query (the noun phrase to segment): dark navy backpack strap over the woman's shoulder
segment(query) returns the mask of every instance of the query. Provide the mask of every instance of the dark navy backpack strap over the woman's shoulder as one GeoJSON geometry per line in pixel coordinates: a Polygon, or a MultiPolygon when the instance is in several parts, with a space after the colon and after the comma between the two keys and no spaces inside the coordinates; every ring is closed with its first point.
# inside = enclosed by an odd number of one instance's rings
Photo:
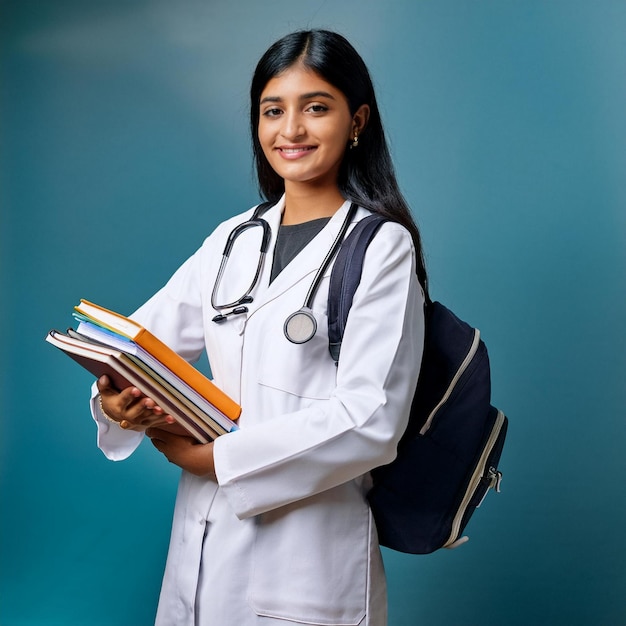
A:
{"type": "Polygon", "coordinates": [[[376,213],[363,218],[344,239],[335,259],[328,289],[328,349],[335,363],[339,361],[354,292],[361,281],[365,251],[386,221],[388,218],[376,213]]]}

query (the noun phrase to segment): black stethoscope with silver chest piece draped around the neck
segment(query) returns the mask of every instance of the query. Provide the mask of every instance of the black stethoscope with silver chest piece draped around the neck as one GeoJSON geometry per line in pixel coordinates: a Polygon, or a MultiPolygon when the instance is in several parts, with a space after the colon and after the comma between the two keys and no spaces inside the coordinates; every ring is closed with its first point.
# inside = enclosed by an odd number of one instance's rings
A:
{"type": "MultiPolygon", "coordinates": [[[[356,213],[356,210],[356,204],[352,203],[346,217],[343,220],[341,229],[339,230],[339,233],[337,233],[337,236],[333,241],[333,245],[326,254],[326,257],[322,261],[322,264],[315,274],[315,278],[313,279],[313,282],[309,287],[309,291],[306,294],[306,298],[304,299],[304,304],[300,309],[294,311],[285,320],[285,323],[283,325],[283,332],[285,333],[285,337],[287,337],[287,339],[292,343],[306,343],[307,341],[311,340],[317,332],[317,320],[315,319],[312,311],[313,299],[315,298],[315,294],[317,293],[320,283],[322,282],[324,273],[328,269],[330,262],[339,251],[339,247],[341,246],[341,243],[346,236],[346,232],[348,230],[348,227],[350,226],[350,222],[352,221],[354,214],[356,213]]],[[[263,262],[265,260],[265,255],[269,246],[270,237],[270,226],[264,219],[261,218],[253,218],[251,220],[248,220],[247,222],[243,222],[242,224],[235,226],[235,228],[228,235],[226,245],[224,247],[224,252],[222,253],[222,261],[220,263],[220,267],[217,272],[217,278],[215,279],[215,284],[213,285],[213,291],[211,293],[211,306],[218,311],[224,311],[225,309],[230,309],[230,311],[218,313],[215,317],[213,317],[213,321],[217,324],[225,322],[231,315],[241,315],[242,313],[248,312],[248,307],[246,305],[253,300],[250,294],[252,293],[252,290],[258,282],[259,276],[261,275],[261,269],[263,268],[263,262]],[[235,240],[246,230],[255,227],[262,228],[263,236],[261,238],[259,261],[257,263],[254,278],[252,279],[250,286],[245,291],[243,296],[237,298],[237,300],[234,300],[233,302],[229,302],[228,304],[217,304],[217,293],[219,291],[219,287],[224,276],[224,271],[226,269],[226,264],[228,262],[228,258],[230,256],[230,252],[233,248],[235,240]]]]}

